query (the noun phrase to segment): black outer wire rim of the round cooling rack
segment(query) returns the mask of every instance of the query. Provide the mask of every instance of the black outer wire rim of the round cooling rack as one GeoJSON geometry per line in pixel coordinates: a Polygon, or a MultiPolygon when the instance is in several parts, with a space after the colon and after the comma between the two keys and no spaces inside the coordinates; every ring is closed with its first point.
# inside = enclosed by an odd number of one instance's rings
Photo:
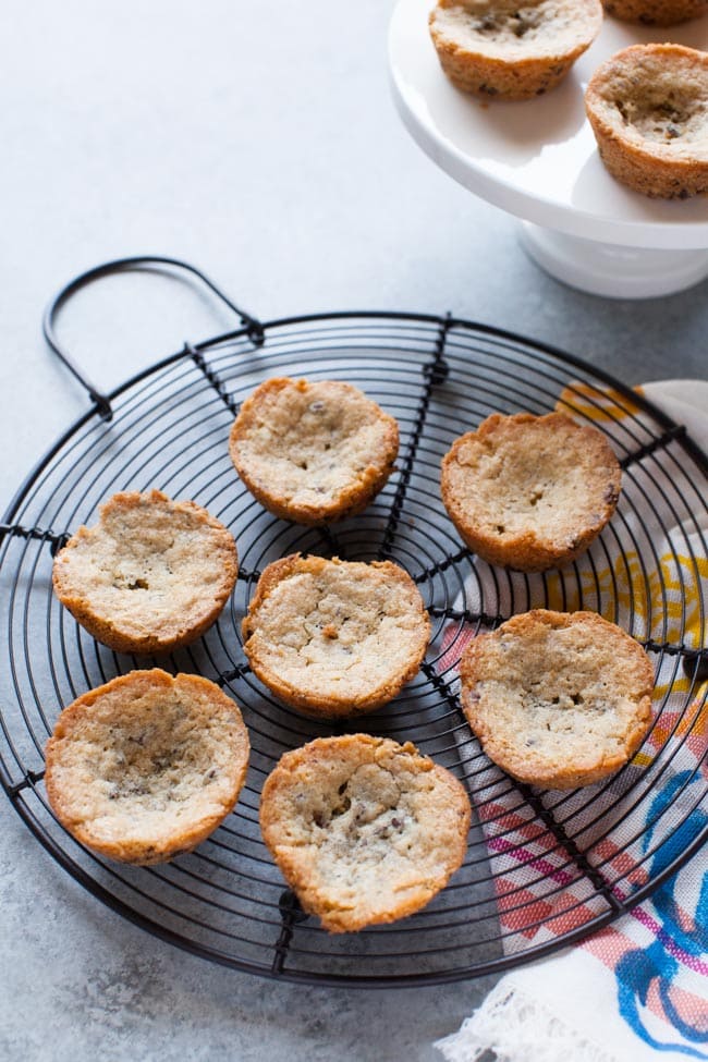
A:
{"type": "MultiPolygon", "coordinates": [[[[331,313],[314,313],[297,315],[292,317],[274,318],[270,321],[258,322],[263,328],[264,332],[272,330],[276,328],[284,328],[293,325],[320,322],[320,321],[337,321],[337,320],[395,320],[395,321],[414,321],[418,324],[429,324],[437,325],[439,328],[449,331],[452,328],[467,329],[477,333],[491,335],[497,339],[509,340],[512,343],[517,343],[526,349],[535,349],[546,355],[550,355],[554,361],[560,361],[569,366],[576,367],[584,371],[590,371],[594,377],[598,380],[611,387],[614,391],[620,393],[624,399],[634,403],[646,413],[649,413],[666,430],[676,431],[680,426],[668,416],[662,410],[658,408],[650,400],[646,399],[644,394],[636,392],[628,386],[624,384],[622,381],[618,380],[609,373],[589,365],[583,358],[567,353],[566,351],[553,346],[545,341],[535,340],[517,332],[510,331],[506,329],[501,329],[492,325],[487,325],[484,322],[472,321],[466,318],[454,317],[451,314],[445,316],[440,316],[437,314],[417,314],[413,312],[395,312],[395,310],[334,310],[331,313]]],[[[230,330],[210,339],[203,340],[198,343],[186,343],[181,350],[173,354],[167,355],[146,368],[134,374],[123,383],[118,384],[110,391],[106,396],[109,401],[114,400],[120,396],[123,392],[130,390],[135,384],[139,383],[142,380],[147,379],[151,375],[160,371],[168,366],[175,364],[183,359],[193,358],[195,353],[202,353],[203,351],[208,351],[218,344],[228,342],[230,340],[239,340],[241,338],[248,338],[248,328],[242,327],[239,329],[230,330]]],[[[266,347],[267,350],[267,347],[266,347]]],[[[21,504],[25,500],[28,491],[44,472],[50,461],[57,455],[59,451],[69,442],[69,440],[94,416],[100,412],[100,406],[98,403],[94,403],[85,414],[82,414],[54,442],[54,444],[44,454],[42,457],[36,463],[34,468],[28,473],[25,479],[22,481],[14,497],[10,501],[4,515],[2,517],[3,523],[11,524],[14,516],[16,515],[21,504]]],[[[694,442],[694,440],[685,434],[685,431],[679,430],[675,441],[684,449],[691,457],[696,462],[699,469],[708,475],[708,455],[694,442]]],[[[7,530],[0,530],[0,546],[4,542],[8,535],[7,530]]],[[[1,709],[0,709],[1,710],[1,709]]],[[[425,987],[441,984],[451,984],[461,980],[469,980],[474,977],[500,974],[514,968],[520,965],[525,965],[537,959],[541,959],[548,954],[554,953],[559,950],[559,947],[566,947],[569,944],[576,944],[599,929],[605,928],[611,923],[615,921],[619,917],[632,911],[635,906],[650,896],[657,891],[669,878],[671,878],[675,872],[678,872],[683,866],[685,866],[689,859],[708,842],[708,826],[706,826],[696,838],[682,850],[682,852],[675,856],[670,863],[668,863],[660,872],[658,872],[647,884],[637,889],[631,896],[626,898],[618,908],[610,908],[603,914],[595,916],[591,920],[585,923],[577,929],[566,931],[562,935],[559,940],[551,940],[545,943],[535,944],[521,952],[517,955],[514,954],[503,954],[498,959],[486,960],[477,963],[473,969],[461,967],[460,969],[449,971],[449,972],[435,972],[431,974],[403,974],[395,976],[379,976],[379,977],[366,977],[359,975],[324,975],[320,973],[302,973],[295,969],[283,968],[280,971],[268,971],[265,966],[258,966],[254,963],[249,963],[245,960],[234,960],[230,955],[224,955],[215,949],[204,948],[199,943],[181,937],[179,933],[172,931],[171,929],[162,926],[159,921],[147,917],[139,911],[131,907],[127,903],[119,900],[109,890],[105,889],[97,881],[95,881],[86,871],[74,860],[65,855],[63,850],[57,845],[53,840],[41,829],[40,825],[34,820],[29,808],[25,806],[22,799],[22,794],[25,789],[34,789],[35,780],[30,777],[32,772],[25,773],[25,781],[21,785],[12,784],[10,777],[7,773],[5,767],[0,761],[0,783],[3,790],[8,794],[11,804],[14,806],[15,810],[20,815],[23,822],[28,827],[32,833],[37,838],[42,847],[62,866],[73,878],[78,881],[91,895],[101,901],[106,906],[114,911],[117,914],[126,918],[132,924],[138,926],[142,929],[147,930],[152,936],[166,941],[167,943],[173,944],[174,947],[188,952],[191,954],[197,955],[203,959],[208,959],[211,962],[216,962],[219,965],[225,966],[231,969],[236,969],[243,973],[254,974],[259,977],[265,977],[267,979],[278,980],[278,981],[291,981],[294,984],[307,984],[307,985],[318,985],[330,988],[413,988],[413,987],[425,987]]]]}

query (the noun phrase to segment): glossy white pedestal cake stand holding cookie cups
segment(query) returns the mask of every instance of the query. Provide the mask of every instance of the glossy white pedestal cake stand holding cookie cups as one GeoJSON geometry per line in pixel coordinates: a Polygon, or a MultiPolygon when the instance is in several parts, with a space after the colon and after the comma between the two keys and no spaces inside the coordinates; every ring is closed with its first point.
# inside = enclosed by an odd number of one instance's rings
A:
{"type": "Polygon", "coordinates": [[[600,162],[583,94],[627,45],[672,40],[708,50],[708,16],[664,29],[607,17],[547,96],[485,102],[454,88],[428,34],[432,0],[399,0],[389,33],[394,99],[417,144],[447,173],[524,219],[528,254],[557,279],[622,298],[668,295],[708,277],[708,197],[649,199],[600,162]]]}

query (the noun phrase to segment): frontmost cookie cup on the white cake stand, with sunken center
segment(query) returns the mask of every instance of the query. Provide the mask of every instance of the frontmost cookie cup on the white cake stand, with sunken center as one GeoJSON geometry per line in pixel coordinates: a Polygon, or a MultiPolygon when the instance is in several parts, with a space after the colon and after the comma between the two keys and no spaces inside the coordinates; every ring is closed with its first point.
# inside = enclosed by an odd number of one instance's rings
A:
{"type": "Polygon", "coordinates": [[[585,93],[600,158],[643,195],[708,193],[708,54],[632,45],[602,63],[585,93]]]}

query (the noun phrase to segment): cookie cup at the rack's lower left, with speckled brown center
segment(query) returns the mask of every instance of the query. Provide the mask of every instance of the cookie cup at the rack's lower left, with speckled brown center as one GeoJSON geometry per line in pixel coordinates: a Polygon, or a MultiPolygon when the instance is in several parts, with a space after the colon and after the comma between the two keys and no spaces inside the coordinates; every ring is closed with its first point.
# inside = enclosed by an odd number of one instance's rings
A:
{"type": "Polygon", "coordinates": [[[47,796],[82,844],[149,866],[216,830],[239,798],[248,756],[241,711],[212,682],[133,671],[61,712],[47,743],[47,796]]]}

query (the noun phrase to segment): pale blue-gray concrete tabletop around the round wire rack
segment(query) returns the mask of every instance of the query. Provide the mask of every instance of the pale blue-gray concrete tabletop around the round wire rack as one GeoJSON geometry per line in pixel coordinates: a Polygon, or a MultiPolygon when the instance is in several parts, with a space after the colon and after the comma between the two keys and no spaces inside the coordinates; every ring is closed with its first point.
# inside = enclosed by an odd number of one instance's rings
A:
{"type": "MultiPolygon", "coordinates": [[[[49,296],[110,258],[186,258],[268,319],[448,309],[628,383],[706,376],[708,289],[609,302],[546,277],[514,221],[439,172],[388,89],[381,0],[8,0],[0,42],[0,500],[86,408],[48,353],[49,296]]],[[[164,277],[106,281],[61,334],[108,388],[229,327],[164,277]]],[[[0,802],[0,1058],[438,1057],[489,981],[294,988],[211,966],[85,893],[0,802]]]]}

